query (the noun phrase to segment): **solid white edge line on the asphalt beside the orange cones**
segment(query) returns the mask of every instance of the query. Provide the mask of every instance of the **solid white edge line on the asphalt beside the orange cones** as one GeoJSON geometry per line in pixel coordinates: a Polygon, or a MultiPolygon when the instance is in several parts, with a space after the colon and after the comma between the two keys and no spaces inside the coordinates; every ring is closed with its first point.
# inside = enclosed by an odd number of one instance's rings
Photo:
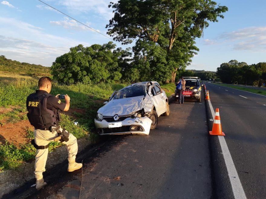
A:
{"type": "MultiPolygon", "coordinates": [[[[208,102],[209,102],[209,106],[210,106],[211,111],[212,111],[212,118],[214,119],[215,113],[214,113],[214,109],[212,107],[212,103],[210,102],[210,100],[208,100],[208,102]]],[[[225,138],[224,138],[224,136],[218,136],[218,138],[219,138],[219,142],[220,142],[220,145],[222,148],[222,154],[223,154],[223,157],[225,160],[225,165],[226,165],[229,179],[231,182],[234,197],[235,197],[235,199],[246,199],[247,198],[246,194],[245,194],[244,189],[242,187],[241,181],[238,177],[232,156],[231,156],[229,149],[228,149],[228,146],[225,142],[225,138]]]]}

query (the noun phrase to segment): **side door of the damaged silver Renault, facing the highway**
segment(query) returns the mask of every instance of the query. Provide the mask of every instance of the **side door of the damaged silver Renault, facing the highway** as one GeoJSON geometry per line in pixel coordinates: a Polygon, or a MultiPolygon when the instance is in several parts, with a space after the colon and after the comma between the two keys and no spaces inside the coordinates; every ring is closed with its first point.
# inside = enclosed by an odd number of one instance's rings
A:
{"type": "Polygon", "coordinates": [[[166,111],[166,101],[164,100],[164,93],[157,85],[154,85],[153,87],[151,87],[151,94],[157,115],[159,116],[166,111]]]}

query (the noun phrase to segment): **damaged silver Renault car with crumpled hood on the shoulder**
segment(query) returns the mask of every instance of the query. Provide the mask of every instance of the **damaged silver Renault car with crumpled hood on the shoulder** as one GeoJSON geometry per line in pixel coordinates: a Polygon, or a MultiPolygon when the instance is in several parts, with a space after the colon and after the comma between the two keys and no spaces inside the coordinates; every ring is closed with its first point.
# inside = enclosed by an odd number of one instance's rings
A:
{"type": "Polygon", "coordinates": [[[168,98],[156,81],[138,82],[114,91],[94,119],[100,135],[143,134],[155,129],[160,115],[169,115],[168,98]]]}

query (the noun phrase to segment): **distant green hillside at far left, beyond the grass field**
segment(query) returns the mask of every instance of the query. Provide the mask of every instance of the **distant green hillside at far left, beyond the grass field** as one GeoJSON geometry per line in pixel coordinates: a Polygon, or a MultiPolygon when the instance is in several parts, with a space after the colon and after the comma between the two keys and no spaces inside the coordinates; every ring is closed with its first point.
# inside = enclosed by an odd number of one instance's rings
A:
{"type": "Polygon", "coordinates": [[[0,56],[0,71],[19,73],[27,76],[50,76],[50,67],[13,61],[5,58],[4,55],[0,56]]]}

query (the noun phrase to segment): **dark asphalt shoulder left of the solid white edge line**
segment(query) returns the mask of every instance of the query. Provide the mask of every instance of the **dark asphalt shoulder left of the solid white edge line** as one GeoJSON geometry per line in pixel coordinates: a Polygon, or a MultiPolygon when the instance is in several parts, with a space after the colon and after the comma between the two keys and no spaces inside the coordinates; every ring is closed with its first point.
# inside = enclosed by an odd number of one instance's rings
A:
{"type": "Polygon", "coordinates": [[[105,138],[79,154],[82,170],[50,171],[44,189],[17,197],[212,198],[206,120],[204,103],[171,103],[170,115],[160,116],[150,135],[105,138]]]}

